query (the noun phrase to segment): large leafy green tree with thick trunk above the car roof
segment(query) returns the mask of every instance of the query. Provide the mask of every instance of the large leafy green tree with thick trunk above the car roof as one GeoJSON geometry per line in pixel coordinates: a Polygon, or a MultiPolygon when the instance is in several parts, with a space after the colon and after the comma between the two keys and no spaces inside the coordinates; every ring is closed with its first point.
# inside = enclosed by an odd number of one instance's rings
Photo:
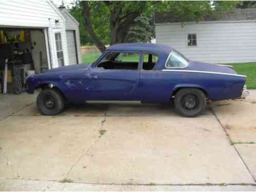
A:
{"type": "MultiPolygon", "coordinates": [[[[105,34],[109,34],[110,45],[141,39],[143,18],[154,13],[172,12],[182,22],[199,21],[216,10],[232,9],[232,1],[82,1],[84,27],[94,44],[103,52],[105,34]],[[102,28],[99,30],[99,28],[102,28]],[[108,31],[107,31],[108,29],[108,31]],[[102,34],[104,36],[102,36],[102,34]]],[[[142,34],[142,39],[147,34],[142,34]],[[144,35],[144,36],[143,36],[144,35]]]]}

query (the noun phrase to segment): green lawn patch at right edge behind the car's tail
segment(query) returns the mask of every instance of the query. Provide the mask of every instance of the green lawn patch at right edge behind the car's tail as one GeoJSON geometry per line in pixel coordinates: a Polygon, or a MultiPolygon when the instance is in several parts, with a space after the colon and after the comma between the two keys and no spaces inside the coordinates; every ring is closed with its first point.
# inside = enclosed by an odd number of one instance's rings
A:
{"type": "Polygon", "coordinates": [[[247,89],[256,89],[256,62],[230,63],[227,65],[233,66],[238,74],[247,76],[245,83],[247,89]]]}

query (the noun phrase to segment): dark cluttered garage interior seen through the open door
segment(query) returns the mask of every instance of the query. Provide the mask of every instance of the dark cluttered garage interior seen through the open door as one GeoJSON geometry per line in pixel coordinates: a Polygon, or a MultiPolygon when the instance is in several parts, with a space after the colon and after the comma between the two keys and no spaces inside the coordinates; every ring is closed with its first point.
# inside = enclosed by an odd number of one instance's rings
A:
{"type": "Polygon", "coordinates": [[[46,70],[43,29],[0,28],[0,94],[24,92],[26,76],[46,70]]]}

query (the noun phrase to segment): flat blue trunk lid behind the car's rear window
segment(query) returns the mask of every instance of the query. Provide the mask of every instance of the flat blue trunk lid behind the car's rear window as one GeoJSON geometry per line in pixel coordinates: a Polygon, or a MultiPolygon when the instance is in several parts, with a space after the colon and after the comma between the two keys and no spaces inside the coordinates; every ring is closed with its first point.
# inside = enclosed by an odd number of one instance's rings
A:
{"type": "Polygon", "coordinates": [[[207,62],[189,61],[189,66],[185,68],[186,70],[193,71],[206,71],[215,73],[229,73],[237,74],[231,66],[217,65],[207,62]]]}

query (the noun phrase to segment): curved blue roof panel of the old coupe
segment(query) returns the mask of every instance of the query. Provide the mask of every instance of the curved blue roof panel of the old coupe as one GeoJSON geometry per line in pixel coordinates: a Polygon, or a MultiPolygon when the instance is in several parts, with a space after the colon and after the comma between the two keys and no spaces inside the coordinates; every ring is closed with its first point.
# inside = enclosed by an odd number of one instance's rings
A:
{"type": "Polygon", "coordinates": [[[107,48],[108,51],[142,51],[142,52],[152,52],[156,54],[169,55],[173,50],[170,46],[160,45],[160,44],[143,44],[143,43],[126,43],[126,44],[115,44],[107,48]]]}

